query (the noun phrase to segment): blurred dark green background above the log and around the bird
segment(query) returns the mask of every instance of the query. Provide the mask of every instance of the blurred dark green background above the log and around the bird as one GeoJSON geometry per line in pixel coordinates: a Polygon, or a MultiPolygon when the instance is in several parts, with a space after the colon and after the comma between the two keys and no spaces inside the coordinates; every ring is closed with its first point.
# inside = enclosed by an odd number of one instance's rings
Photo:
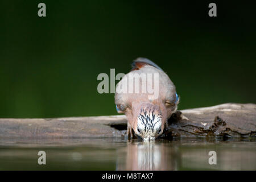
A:
{"type": "Polygon", "coordinates": [[[210,18],[210,2],[2,0],[0,117],[116,114],[97,76],[139,56],[167,72],[179,109],[255,103],[255,6],[213,1],[210,18]]]}

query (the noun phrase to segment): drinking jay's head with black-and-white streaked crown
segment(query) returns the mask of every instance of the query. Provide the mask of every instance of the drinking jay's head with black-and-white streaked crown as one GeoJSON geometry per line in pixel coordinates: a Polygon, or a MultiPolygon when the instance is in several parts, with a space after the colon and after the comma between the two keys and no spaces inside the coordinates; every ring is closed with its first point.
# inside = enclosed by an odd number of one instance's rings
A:
{"type": "Polygon", "coordinates": [[[162,119],[159,106],[150,103],[142,104],[138,116],[135,117],[134,131],[144,140],[154,140],[163,133],[162,119]]]}

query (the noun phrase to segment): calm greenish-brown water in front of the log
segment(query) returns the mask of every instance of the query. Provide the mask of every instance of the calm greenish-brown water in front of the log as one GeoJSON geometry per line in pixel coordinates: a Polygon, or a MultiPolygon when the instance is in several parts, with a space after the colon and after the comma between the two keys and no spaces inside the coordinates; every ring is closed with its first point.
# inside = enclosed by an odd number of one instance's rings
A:
{"type": "Polygon", "coordinates": [[[0,170],[256,170],[256,140],[0,139],[0,170]],[[38,152],[46,152],[46,165],[38,152]],[[217,164],[210,165],[209,151],[217,164]]]}

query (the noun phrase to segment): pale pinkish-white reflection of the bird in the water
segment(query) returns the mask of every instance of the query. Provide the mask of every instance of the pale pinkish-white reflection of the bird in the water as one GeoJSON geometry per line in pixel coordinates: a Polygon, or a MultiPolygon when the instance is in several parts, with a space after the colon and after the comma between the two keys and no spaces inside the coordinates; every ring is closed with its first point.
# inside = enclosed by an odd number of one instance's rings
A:
{"type": "Polygon", "coordinates": [[[175,147],[155,141],[128,142],[123,149],[127,154],[119,151],[117,170],[176,170],[180,160],[175,147]]]}

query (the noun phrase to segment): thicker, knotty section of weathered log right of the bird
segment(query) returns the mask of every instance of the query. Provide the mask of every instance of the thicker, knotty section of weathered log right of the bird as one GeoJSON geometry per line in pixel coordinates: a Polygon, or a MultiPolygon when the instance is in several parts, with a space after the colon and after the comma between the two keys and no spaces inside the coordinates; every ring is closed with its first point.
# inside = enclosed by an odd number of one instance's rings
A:
{"type": "Polygon", "coordinates": [[[255,104],[222,104],[177,111],[166,134],[175,137],[256,137],[255,104]]]}

